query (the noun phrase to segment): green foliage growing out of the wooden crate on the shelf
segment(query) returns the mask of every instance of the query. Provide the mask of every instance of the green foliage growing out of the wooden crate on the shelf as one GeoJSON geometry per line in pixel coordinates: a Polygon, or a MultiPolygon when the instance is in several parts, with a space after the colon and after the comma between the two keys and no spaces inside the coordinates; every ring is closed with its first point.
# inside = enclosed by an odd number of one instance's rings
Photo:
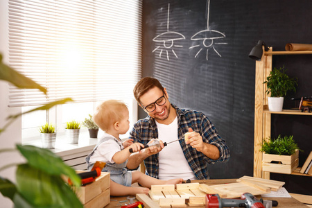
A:
{"type": "Polygon", "coordinates": [[[300,149],[293,135],[284,138],[279,135],[277,139],[263,139],[260,151],[272,155],[293,155],[296,150],[300,149]]]}

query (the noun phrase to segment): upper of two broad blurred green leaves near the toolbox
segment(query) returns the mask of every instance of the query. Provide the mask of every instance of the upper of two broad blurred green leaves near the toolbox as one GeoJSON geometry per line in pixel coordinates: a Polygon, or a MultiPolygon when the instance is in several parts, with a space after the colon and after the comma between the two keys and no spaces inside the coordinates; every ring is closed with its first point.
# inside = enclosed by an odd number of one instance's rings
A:
{"type": "Polygon", "coordinates": [[[67,175],[76,187],[80,187],[81,179],[76,171],[64,164],[62,159],[51,150],[19,144],[17,149],[27,159],[29,165],[51,175],[67,175]]]}

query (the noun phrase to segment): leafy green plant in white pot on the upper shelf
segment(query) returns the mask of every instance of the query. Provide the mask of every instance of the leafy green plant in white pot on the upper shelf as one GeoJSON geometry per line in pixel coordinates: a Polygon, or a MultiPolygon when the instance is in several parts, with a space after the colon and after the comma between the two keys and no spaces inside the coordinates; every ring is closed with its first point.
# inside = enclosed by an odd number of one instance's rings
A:
{"type": "Polygon", "coordinates": [[[286,69],[276,67],[270,71],[270,75],[263,83],[266,84],[266,93],[268,97],[268,108],[270,111],[282,111],[284,96],[288,91],[296,92],[297,78],[289,78],[286,74],[286,69]]]}

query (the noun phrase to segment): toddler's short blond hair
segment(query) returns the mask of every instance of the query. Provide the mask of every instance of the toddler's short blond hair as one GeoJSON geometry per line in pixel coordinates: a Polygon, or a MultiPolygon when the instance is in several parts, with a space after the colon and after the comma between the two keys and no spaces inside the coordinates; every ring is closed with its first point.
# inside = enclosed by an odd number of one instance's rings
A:
{"type": "Polygon", "coordinates": [[[101,130],[107,131],[114,123],[121,120],[124,110],[128,110],[128,107],[122,101],[104,101],[96,107],[93,120],[101,130]]]}

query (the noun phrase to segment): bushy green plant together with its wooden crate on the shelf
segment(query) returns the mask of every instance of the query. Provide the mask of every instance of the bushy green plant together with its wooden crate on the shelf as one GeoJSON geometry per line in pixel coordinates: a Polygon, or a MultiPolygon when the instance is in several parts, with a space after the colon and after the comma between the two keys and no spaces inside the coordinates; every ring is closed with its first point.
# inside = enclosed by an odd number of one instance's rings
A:
{"type": "Polygon", "coordinates": [[[260,150],[263,171],[291,174],[299,164],[299,150],[293,135],[263,139],[260,150]]]}

